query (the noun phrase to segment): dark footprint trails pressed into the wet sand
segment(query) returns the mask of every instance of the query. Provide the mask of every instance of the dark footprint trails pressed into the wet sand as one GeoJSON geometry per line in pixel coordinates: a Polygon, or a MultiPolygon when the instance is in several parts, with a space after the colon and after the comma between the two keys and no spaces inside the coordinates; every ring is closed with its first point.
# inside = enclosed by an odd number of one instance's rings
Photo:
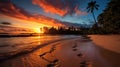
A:
{"type": "MultiPolygon", "coordinates": [[[[77,51],[78,50],[77,47],[78,47],[78,45],[77,45],[77,43],[75,43],[72,47],[73,51],[77,51]]],[[[60,67],[60,65],[58,64],[59,59],[55,59],[53,61],[50,61],[50,60],[48,60],[47,58],[44,57],[46,54],[52,53],[55,50],[56,50],[56,45],[53,45],[48,52],[44,52],[43,54],[39,55],[43,60],[49,62],[49,64],[47,64],[46,67],[60,67]]],[[[79,58],[84,57],[82,53],[77,54],[77,56],[79,58]]],[[[89,65],[89,62],[86,61],[86,60],[80,62],[80,67],[88,67],[88,65],[89,65]]]]}

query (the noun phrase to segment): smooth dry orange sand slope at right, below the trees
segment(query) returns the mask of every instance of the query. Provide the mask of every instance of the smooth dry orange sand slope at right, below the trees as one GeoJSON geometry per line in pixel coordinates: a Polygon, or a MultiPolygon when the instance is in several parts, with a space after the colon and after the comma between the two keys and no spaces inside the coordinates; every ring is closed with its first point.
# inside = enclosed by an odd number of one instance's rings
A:
{"type": "Polygon", "coordinates": [[[120,35],[90,35],[90,37],[96,45],[120,53],[120,35]]]}

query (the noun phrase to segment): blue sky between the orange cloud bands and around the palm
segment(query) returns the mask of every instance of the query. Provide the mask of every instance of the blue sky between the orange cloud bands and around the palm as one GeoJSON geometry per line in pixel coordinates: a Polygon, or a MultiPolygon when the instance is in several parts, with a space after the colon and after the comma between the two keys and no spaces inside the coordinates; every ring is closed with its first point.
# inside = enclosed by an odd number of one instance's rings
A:
{"type": "MultiPolygon", "coordinates": [[[[54,1],[54,0],[51,0],[54,1]]],[[[86,12],[86,7],[87,7],[87,3],[90,2],[91,0],[79,0],[79,10],[86,12]]],[[[105,7],[107,6],[108,0],[96,0],[97,4],[100,5],[99,10],[95,11],[95,15],[96,18],[97,16],[102,13],[102,11],[105,9],[105,7]]],[[[39,13],[48,17],[52,17],[61,21],[67,21],[67,22],[71,22],[71,23],[80,23],[80,24],[90,24],[90,21],[93,21],[92,15],[90,13],[86,14],[86,15],[77,15],[77,14],[73,14],[73,15],[66,15],[64,17],[61,17],[57,14],[50,14],[50,13],[46,13],[44,12],[44,10],[42,8],[40,8],[37,5],[33,5],[32,4],[32,0],[12,0],[12,2],[16,5],[18,5],[19,7],[24,8],[25,10],[27,10],[30,13],[39,13]]]]}

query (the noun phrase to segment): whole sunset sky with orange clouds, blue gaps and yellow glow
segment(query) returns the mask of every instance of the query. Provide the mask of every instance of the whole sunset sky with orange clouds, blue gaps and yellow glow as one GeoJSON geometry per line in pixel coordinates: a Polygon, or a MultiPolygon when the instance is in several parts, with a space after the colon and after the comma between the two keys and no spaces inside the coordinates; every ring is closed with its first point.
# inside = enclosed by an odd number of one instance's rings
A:
{"type": "MultiPolygon", "coordinates": [[[[43,26],[67,26],[71,23],[93,24],[87,13],[87,3],[91,0],[0,0],[0,33],[7,27],[32,29],[40,32],[43,26]],[[8,24],[3,24],[8,22],[8,24]],[[69,23],[67,23],[69,22],[69,23]]],[[[97,17],[107,6],[108,0],[96,0],[100,5],[95,11],[97,17]]],[[[7,28],[11,29],[11,28],[7,28]]],[[[16,30],[15,30],[16,31],[16,30]]]]}

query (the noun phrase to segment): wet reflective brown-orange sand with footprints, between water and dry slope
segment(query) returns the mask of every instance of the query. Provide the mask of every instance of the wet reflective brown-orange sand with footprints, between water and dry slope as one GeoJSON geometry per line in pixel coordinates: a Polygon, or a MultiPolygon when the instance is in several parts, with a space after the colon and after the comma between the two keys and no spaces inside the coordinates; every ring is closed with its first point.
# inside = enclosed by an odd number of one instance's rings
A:
{"type": "Polygon", "coordinates": [[[120,54],[84,37],[48,44],[0,63],[0,67],[120,67],[120,54]]]}

